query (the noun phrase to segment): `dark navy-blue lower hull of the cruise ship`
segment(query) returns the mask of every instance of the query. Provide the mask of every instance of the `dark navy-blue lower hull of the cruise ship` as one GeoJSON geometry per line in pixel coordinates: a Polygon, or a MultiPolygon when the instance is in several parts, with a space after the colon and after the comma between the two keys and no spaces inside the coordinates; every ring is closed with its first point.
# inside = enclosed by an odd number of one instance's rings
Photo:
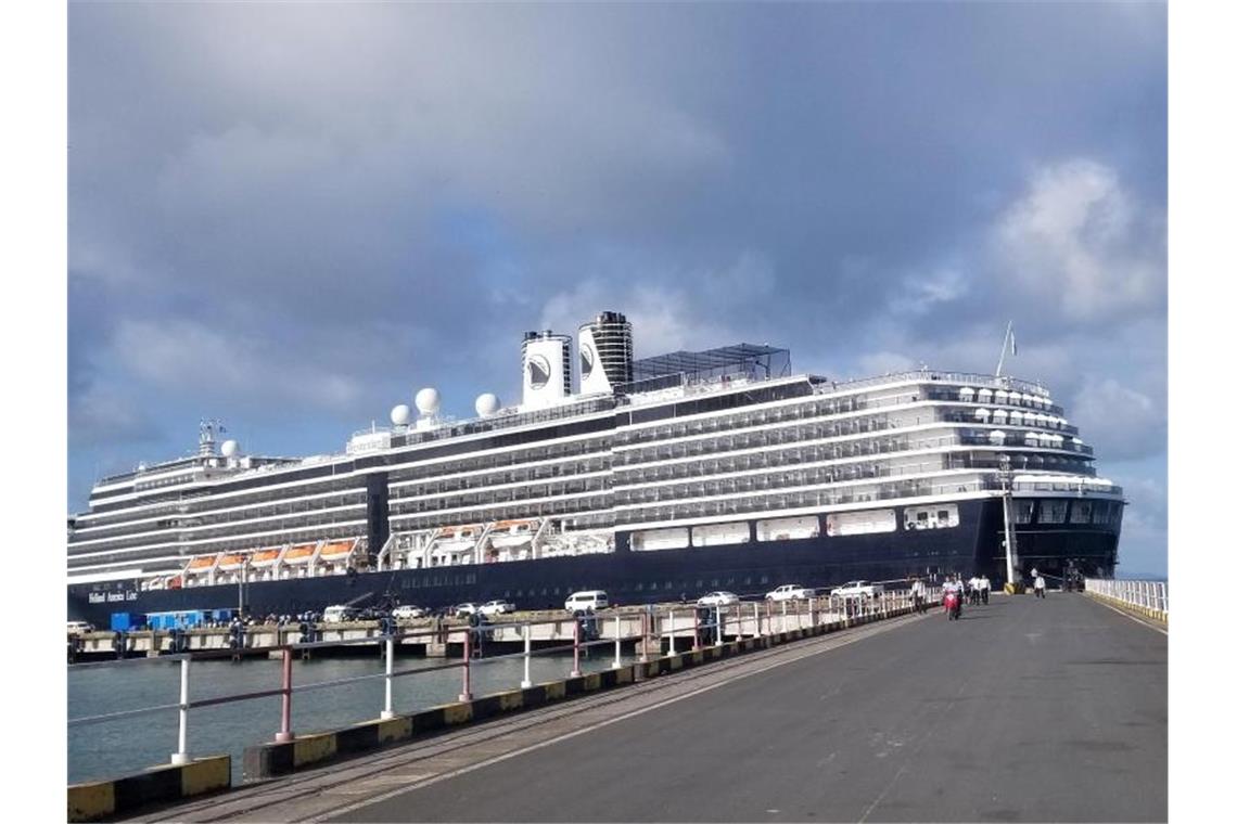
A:
{"type": "MultiPolygon", "coordinates": [[[[871,535],[829,536],[680,550],[618,551],[573,557],[510,561],[428,570],[362,572],[288,581],[257,581],[139,591],[134,582],[72,584],[68,618],[106,626],[111,613],[155,613],[236,608],[252,615],[320,612],[328,604],[365,607],[395,599],[440,608],[506,598],[520,609],[560,609],[580,589],[605,589],[612,603],[695,599],[711,589],[762,595],[783,583],[830,587],[847,581],[899,581],[909,576],[987,574],[1004,581],[1004,545],[998,499],[957,502],[959,525],[871,535]]],[[[899,510],[899,524],[901,510],[899,510]]],[[[1060,576],[1111,574],[1119,523],[1111,525],[1018,525],[1023,570],[1060,576]]]]}

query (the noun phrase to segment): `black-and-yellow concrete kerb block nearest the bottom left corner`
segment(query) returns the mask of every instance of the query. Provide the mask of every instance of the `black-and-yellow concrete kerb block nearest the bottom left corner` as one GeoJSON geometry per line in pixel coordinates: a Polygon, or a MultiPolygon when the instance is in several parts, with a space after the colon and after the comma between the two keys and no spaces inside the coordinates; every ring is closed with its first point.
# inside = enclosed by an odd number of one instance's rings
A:
{"type": "Polygon", "coordinates": [[[231,756],[213,755],[186,765],[151,767],[113,781],[69,784],[68,820],[95,822],[147,804],[184,801],[231,787],[231,756]]]}

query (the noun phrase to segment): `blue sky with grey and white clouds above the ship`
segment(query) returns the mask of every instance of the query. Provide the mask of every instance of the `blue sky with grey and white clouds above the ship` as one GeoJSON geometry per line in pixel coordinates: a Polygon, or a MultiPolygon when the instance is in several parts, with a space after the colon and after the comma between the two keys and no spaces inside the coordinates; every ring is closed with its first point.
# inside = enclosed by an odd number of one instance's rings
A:
{"type": "Polygon", "coordinates": [[[1159,4],[71,4],[68,489],[341,451],[524,330],[1043,380],[1168,535],[1159,4]]]}

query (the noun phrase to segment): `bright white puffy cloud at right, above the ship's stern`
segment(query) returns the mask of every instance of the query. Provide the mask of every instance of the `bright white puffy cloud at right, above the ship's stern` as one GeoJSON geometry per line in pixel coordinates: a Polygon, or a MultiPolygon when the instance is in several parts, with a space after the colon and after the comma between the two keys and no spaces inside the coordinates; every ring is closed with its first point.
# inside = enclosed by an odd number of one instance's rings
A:
{"type": "Polygon", "coordinates": [[[1004,211],[993,264],[1012,290],[1075,322],[1163,313],[1164,240],[1162,210],[1111,167],[1076,158],[1038,169],[1004,211]]]}

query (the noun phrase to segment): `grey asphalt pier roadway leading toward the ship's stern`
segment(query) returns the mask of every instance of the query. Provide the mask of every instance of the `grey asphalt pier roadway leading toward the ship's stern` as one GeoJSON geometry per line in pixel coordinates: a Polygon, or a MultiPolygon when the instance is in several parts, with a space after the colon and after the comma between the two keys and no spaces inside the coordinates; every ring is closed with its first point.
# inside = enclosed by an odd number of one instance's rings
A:
{"type": "Polygon", "coordinates": [[[172,814],[1168,819],[1168,637],[1084,595],[993,597],[959,621],[934,610],[656,681],[479,725],[419,745],[416,757],[375,756],[367,771],[353,763],[251,791],[265,801],[246,804],[241,791],[230,805],[172,814]]]}

